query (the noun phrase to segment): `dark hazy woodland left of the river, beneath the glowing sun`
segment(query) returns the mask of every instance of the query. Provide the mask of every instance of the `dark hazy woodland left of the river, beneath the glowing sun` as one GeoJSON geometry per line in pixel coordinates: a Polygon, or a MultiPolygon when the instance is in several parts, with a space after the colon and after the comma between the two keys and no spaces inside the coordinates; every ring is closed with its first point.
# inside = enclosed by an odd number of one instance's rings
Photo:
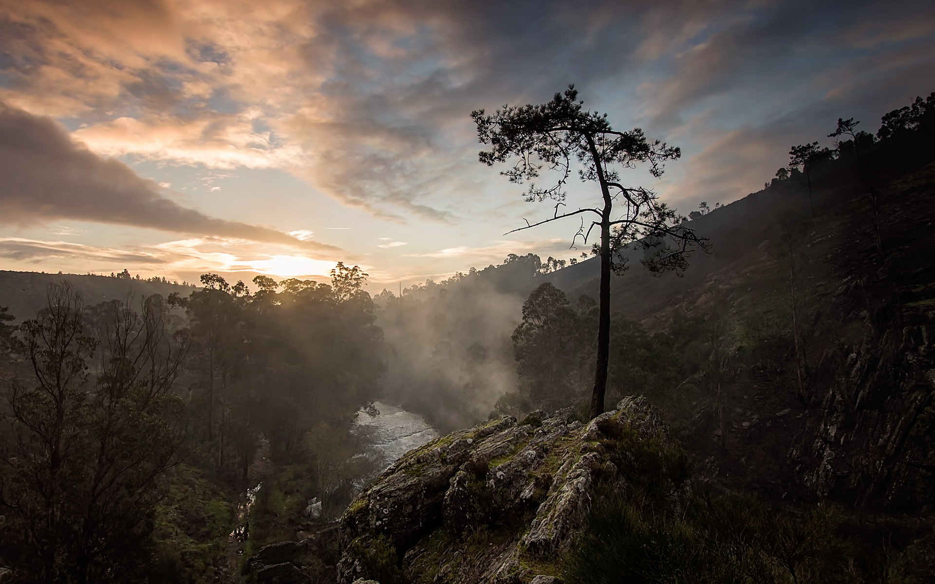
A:
{"type": "Polygon", "coordinates": [[[312,496],[337,515],[373,470],[347,466],[364,439],[349,429],[384,365],[367,275],[338,264],[332,277],[259,277],[250,294],[207,274],[188,297],[138,306],[85,306],[54,284],[36,320],[15,334],[0,320],[14,365],[0,435],[7,577],[216,581],[260,459],[248,550],[293,537],[312,496]]]}

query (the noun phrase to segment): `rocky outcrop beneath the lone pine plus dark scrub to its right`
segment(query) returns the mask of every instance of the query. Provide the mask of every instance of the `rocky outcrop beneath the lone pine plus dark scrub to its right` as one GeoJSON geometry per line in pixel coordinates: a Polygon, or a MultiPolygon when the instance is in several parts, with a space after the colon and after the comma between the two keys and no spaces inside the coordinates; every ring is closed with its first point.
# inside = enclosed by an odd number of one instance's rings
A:
{"type": "Polygon", "coordinates": [[[535,411],[412,450],[337,524],[261,549],[249,571],[257,584],[909,584],[935,576],[930,528],[715,494],[654,406],[627,397],[588,423],[535,411]]]}

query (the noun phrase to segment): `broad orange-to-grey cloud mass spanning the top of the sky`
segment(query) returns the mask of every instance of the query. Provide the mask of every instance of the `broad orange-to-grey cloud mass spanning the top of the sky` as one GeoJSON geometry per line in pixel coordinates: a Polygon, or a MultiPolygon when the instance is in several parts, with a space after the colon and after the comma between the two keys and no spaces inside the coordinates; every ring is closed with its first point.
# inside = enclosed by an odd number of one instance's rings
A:
{"type": "MultiPolygon", "coordinates": [[[[478,107],[539,102],[573,81],[613,123],[646,122],[683,138],[686,158],[717,162],[712,136],[811,103],[880,110],[894,78],[928,93],[935,54],[926,0],[7,4],[7,103],[80,117],[76,136],[108,155],[285,168],[391,221],[470,221],[485,176],[468,119],[478,107]],[[720,121],[690,127],[707,107],[720,121]]],[[[699,179],[685,176],[681,192],[699,179]]]]}

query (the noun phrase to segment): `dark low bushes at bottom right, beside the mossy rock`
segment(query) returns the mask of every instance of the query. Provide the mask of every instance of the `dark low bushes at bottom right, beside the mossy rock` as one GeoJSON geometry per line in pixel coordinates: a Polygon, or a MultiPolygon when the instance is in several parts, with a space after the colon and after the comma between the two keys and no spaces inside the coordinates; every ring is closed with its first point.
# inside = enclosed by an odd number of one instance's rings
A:
{"type": "Polygon", "coordinates": [[[745,495],[702,495],[676,514],[646,501],[639,492],[597,489],[587,530],[565,561],[568,584],[915,581],[909,555],[858,545],[833,506],[790,510],[745,495]]]}

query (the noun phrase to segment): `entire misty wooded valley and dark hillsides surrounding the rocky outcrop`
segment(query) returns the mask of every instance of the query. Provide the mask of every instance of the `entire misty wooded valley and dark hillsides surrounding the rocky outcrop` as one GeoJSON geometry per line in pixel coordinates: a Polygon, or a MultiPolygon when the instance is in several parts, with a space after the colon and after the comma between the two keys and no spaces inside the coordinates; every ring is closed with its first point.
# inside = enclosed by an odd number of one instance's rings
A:
{"type": "MultiPolygon", "coordinates": [[[[652,477],[628,499],[602,492],[569,581],[624,581],[622,557],[634,581],[935,574],[935,93],[875,134],[858,123],[828,127],[827,147],[792,147],[762,191],[682,218],[712,244],[682,278],[624,251],[607,401],[656,406],[683,444],[679,468],[712,498],[670,506],[652,477]],[[755,541],[735,533],[725,546],[747,555],[712,543],[738,518],[755,541]],[[799,547],[770,548],[776,534],[799,547]],[[640,555],[653,538],[669,543],[640,555]]],[[[63,278],[35,313],[0,308],[0,579],[256,577],[261,547],[321,531],[382,468],[352,433],[376,400],[442,433],[563,407],[587,422],[596,270],[511,255],[371,297],[367,274],[338,264],[329,283],[206,274],[197,288],[160,278],[165,290],[104,302],[63,278]]],[[[666,464],[659,473],[675,472],[666,464]]],[[[306,560],[304,577],[334,577],[306,560]]],[[[387,570],[384,584],[408,581],[387,570]]]]}

